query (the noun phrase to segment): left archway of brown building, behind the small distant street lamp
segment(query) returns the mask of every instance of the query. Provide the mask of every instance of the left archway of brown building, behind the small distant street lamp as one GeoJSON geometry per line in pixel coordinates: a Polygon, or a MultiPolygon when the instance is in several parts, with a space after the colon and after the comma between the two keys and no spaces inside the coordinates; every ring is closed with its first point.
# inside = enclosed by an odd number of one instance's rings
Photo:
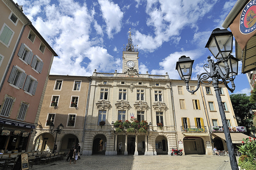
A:
{"type": "Polygon", "coordinates": [[[35,151],[51,151],[53,150],[54,137],[50,133],[43,133],[35,139],[35,151]]]}

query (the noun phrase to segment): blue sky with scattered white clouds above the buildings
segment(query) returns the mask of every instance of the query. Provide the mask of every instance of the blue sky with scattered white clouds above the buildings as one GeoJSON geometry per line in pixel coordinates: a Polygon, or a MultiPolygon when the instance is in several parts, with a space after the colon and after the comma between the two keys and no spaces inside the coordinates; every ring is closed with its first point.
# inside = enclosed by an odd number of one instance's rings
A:
{"type": "MultiPolygon", "coordinates": [[[[58,54],[50,74],[91,76],[122,72],[129,29],[139,52],[139,73],[180,79],[176,62],[194,59],[193,77],[204,71],[208,38],[237,0],[13,0],[58,54]],[[124,45],[124,46],[123,46],[124,45]]],[[[230,30],[229,30],[230,31],[230,30]]],[[[233,43],[234,45],[234,43],[233,43]]],[[[232,55],[236,56],[234,47],[232,55]]],[[[234,93],[250,92],[245,74],[234,93]]],[[[231,84],[229,83],[231,87],[231,84]]],[[[230,93],[231,94],[231,93],[230,93]]]]}

